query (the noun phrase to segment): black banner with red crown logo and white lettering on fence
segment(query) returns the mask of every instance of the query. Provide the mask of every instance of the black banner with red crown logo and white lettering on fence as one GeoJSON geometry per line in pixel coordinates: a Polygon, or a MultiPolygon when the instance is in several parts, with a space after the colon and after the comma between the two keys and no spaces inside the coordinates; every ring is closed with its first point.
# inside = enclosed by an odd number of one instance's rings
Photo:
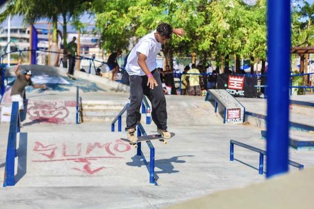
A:
{"type": "Polygon", "coordinates": [[[225,89],[230,94],[242,97],[257,97],[257,76],[219,74],[217,89],[225,89]]]}

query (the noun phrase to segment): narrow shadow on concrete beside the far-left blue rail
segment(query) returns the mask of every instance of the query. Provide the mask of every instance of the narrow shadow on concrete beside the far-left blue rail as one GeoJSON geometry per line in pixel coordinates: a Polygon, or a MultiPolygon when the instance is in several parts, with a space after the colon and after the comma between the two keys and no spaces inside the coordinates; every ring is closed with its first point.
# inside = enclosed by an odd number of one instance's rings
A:
{"type": "Polygon", "coordinates": [[[15,175],[15,184],[18,183],[26,174],[27,165],[27,133],[20,133],[19,148],[16,150],[18,156],[18,172],[15,175]]]}

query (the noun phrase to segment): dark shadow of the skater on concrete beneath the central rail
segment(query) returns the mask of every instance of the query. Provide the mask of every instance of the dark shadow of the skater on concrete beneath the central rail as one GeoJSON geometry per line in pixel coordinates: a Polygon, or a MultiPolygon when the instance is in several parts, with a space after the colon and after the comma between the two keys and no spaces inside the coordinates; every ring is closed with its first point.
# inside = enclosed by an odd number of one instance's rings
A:
{"type": "MultiPolygon", "coordinates": [[[[179,170],[174,170],[174,165],[172,163],[185,163],[186,161],[179,160],[179,158],[182,157],[193,157],[194,155],[182,155],[182,156],[176,156],[172,157],[170,159],[162,159],[162,160],[156,160],[155,161],[155,169],[159,168],[159,171],[155,171],[155,174],[159,173],[178,173],[180,172],[179,170]]],[[[141,167],[142,165],[145,166],[144,161],[142,160],[141,156],[135,155],[134,157],[131,158],[132,162],[126,163],[129,166],[137,166],[141,167]]],[[[147,159],[149,160],[149,159],[147,159]]],[[[148,161],[148,166],[150,166],[150,162],[148,161]]]]}

